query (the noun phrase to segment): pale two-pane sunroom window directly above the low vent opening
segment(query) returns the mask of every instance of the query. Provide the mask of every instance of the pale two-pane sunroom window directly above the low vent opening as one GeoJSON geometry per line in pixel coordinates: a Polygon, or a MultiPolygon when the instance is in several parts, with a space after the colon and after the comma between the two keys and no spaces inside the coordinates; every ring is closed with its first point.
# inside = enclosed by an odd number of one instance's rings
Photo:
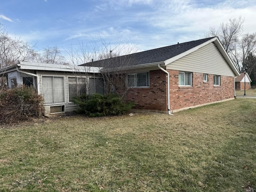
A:
{"type": "Polygon", "coordinates": [[[65,102],[64,77],[43,76],[42,92],[45,104],[65,102]]]}

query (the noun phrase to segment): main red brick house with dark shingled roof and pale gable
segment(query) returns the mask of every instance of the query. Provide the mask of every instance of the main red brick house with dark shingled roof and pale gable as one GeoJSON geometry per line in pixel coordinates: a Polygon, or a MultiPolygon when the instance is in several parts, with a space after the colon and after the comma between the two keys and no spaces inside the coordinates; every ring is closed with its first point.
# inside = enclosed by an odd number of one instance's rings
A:
{"type": "Polygon", "coordinates": [[[127,100],[136,108],[168,114],[234,99],[234,78],[240,75],[217,37],[82,66],[118,68],[130,87],[127,100]]]}

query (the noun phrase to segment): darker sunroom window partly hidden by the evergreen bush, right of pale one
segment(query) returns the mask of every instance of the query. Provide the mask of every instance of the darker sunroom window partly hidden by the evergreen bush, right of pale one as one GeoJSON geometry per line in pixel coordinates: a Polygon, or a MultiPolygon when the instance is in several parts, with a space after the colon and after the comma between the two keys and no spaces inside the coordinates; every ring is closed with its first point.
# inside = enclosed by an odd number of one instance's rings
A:
{"type": "Polygon", "coordinates": [[[72,102],[75,96],[87,93],[86,78],[68,77],[68,100],[72,102]]]}

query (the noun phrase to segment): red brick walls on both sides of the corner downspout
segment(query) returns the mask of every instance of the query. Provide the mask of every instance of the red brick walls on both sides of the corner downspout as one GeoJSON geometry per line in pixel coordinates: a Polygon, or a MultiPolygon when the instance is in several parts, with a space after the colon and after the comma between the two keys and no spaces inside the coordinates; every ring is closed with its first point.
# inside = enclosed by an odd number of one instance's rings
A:
{"type": "MultiPolygon", "coordinates": [[[[168,72],[171,111],[234,98],[233,77],[221,76],[221,86],[213,86],[213,75],[208,74],[208,82],[203,82],[203,74],[193,72],[193,86],[179,87],[178,71],[168,72]]],[[[166,74],[163,71],[150,71],[150,87],[130,89],[127,100],[134,101],[139,109],[167,112],[166,86],[166,74]]]]}

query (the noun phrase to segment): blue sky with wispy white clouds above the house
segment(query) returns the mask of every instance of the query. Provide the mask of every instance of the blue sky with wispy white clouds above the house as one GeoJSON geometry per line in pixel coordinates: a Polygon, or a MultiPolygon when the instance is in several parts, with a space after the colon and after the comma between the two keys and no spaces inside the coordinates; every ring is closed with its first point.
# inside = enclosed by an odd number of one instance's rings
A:
{"type": "Polygon", "coordinates": [[[204,38],[209,27],[244,18],[256,32],[256,0],[1,0],[0,23],[36,50],[122,42],[136,51],[204,38]]]}

